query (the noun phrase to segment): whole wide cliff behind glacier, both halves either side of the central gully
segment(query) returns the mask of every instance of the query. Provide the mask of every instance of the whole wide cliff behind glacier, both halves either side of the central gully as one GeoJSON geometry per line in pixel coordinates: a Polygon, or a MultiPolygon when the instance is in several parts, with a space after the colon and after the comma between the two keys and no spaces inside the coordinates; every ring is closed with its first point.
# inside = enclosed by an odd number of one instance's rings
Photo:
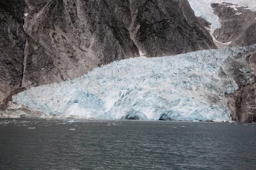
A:
{"type": "Polygon", "coordinates": [[[22,86],[74,79],[115,60],[215,48],[187,0],[27,0],[22,86]]]}

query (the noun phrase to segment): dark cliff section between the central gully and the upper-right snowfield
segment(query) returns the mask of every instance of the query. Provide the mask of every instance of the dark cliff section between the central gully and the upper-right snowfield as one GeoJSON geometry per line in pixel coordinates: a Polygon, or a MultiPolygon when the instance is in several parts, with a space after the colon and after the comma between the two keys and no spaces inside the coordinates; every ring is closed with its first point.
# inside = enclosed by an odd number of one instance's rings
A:
{"type": "MultiPolygon", "coordinates": [[[[214,49],[187,0],[131,0],[129,30],[147,57],[214,49]]],[[[128,20],[129,23],[129,20],[128,20]]]]}

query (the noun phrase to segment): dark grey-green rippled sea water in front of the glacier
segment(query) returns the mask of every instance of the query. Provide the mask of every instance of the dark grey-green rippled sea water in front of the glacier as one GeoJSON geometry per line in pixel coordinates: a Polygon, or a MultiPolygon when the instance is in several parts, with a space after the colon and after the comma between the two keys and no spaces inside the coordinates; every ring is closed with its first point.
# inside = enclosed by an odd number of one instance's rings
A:
{"type": "Polygon", "coordinates": [[[0,170],[256,170],[256,124],[0,119],[0,170]]]}

